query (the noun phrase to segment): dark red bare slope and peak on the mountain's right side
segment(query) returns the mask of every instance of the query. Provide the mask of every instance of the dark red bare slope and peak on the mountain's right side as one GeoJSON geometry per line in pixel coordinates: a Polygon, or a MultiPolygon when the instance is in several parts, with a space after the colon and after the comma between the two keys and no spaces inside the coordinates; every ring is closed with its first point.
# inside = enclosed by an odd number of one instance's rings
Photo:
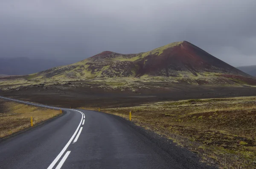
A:
{"type": "Polygon", "coordinates": [[[249,77],[233,66],[219,60],[197,46],[183,41],[177,46],[165,49],[162,54],[150,54],[138,60],[140,69],[137,75],[151,74],[169,76],[176,71],[232,73],[249,77]]]}

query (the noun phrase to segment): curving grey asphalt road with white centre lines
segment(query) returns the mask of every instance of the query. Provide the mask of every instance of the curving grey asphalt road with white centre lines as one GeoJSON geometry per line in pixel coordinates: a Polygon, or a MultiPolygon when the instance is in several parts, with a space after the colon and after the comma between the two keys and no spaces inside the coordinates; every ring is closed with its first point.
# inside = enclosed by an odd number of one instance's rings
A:
{"type": "Polygon", "coordinates": [[[121,117],[89,110],[62,110],[63,115],[2,140],[0,169],[211,168],[200,163],[192,152],[121,117]]]}

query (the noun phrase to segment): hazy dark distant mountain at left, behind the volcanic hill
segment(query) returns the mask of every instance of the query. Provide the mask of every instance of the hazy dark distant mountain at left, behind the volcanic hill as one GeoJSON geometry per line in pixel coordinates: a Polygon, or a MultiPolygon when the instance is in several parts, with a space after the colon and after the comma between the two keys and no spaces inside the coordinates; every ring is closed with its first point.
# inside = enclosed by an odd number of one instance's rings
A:
{"type": "Polygon", "coordinates": [[[43,71],[55,66],[65,65],[50,59],[31,59],[27,57],[0,58],[0,74],[24,75],[43,71]]]}

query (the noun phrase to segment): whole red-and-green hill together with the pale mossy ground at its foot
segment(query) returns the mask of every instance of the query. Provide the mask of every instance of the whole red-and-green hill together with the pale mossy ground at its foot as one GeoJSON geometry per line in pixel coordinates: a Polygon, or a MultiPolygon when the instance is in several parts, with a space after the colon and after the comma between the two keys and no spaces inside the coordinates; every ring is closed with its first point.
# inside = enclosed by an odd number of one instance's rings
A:
{"type": "Polygon", "coordinates": [[[256,85],[256,78],[187,41],[138,54],[105,51],[77,63],[17,78],[30,82],[121,78],[196,85],[256,85]]]}

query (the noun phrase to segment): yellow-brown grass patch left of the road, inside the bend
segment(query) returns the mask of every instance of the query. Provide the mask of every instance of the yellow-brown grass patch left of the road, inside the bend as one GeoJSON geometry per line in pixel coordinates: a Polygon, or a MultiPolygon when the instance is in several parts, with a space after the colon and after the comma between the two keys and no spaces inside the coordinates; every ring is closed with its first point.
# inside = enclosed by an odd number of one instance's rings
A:
{"type": "Polygon", "coordinates": [[[31,127],[60,114],[58,110],[29,106],[0,99],[0,138],[31,127]]]}

